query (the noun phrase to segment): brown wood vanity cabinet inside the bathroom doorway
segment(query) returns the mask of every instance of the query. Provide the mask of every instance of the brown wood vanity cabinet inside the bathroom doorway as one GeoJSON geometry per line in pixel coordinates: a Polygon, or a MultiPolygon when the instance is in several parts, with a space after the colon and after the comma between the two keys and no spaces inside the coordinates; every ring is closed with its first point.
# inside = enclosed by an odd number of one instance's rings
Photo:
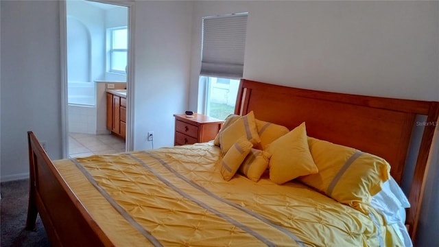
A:
{"type": "Polygon", "coordinates": [[[107,129],[112,134],[126,137],[126,97],[107,92],[107,129]]]}

